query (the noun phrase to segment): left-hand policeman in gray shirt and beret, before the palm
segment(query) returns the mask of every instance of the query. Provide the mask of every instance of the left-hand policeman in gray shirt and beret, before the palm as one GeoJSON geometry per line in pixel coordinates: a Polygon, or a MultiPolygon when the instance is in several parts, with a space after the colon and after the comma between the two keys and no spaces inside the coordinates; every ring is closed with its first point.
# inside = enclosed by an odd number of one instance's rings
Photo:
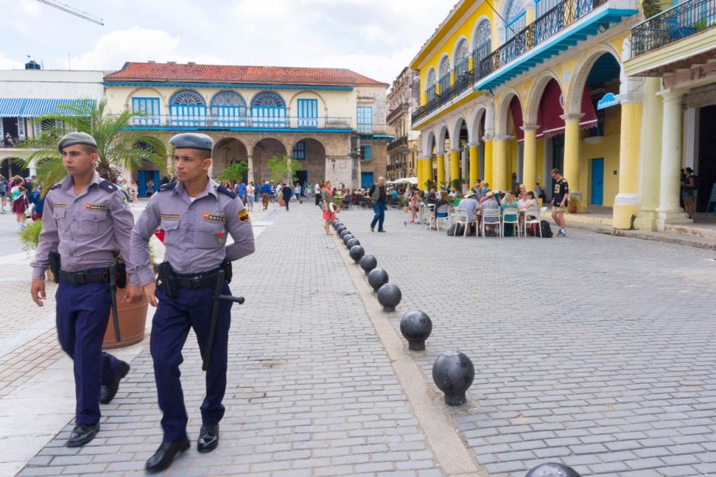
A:
{"type": "MultiPolygon", "coordinates": [[[[31,266],[30,293],[44,305],[45,270],[52,266],[57,286],[57,337],[74,361],[75,425],[67,447],[87,444],[100,430],[100,404],[117,394],[130,365],[102,352],[110,317],[115,258],[122,256],[130,274],[123,301],[142,299],[137,267],[130,259],[134,217],[127,196],[95,170],[97,143],[86,133],[69,133],[57,144],[67,171],[45,197],[42,233],[31,266]],[[59,255],[58,255],[59,253],[59,255]]],[[[115,275],[116,281],[124,278],[115,275]]]]}

